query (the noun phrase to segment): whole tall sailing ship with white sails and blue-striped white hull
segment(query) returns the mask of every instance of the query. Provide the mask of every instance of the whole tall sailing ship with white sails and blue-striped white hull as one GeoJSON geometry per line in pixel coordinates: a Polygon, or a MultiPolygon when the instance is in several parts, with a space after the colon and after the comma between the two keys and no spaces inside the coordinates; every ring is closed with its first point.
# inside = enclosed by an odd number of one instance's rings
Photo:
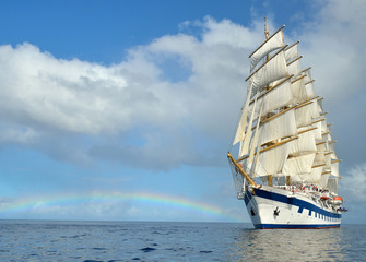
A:
{"type": "Polygon", "coordinates": [[[249,56],[247,94],[227,157],[256,228],[340,227],[339,162],[311,67],[284,26],[249,56]],[[234,158],[233,155],[238,155],[234,158]]]}

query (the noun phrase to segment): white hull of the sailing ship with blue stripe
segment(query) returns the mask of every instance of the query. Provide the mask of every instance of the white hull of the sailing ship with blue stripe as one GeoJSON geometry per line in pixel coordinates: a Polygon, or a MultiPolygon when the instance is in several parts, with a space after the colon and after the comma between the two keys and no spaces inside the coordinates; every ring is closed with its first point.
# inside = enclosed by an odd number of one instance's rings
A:
{"type": "Polygon", "coordinates": [[[246,190],[244,200],[256,228],[331,228],[341,212],[309,194],[262,186],[246,190]]]}

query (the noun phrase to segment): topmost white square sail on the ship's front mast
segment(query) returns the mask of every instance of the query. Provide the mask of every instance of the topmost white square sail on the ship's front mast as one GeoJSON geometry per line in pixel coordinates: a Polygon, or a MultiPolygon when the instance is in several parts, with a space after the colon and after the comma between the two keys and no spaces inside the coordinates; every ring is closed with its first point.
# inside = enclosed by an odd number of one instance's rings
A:
{"type": "Polygon", "coordinates": [[[260,46],[253,53],[249,56],[250,72],[268,53],[283,47],[284,44],[282,28],[274,33],[267,41],[264,41],[262,46],[260,46]]]}

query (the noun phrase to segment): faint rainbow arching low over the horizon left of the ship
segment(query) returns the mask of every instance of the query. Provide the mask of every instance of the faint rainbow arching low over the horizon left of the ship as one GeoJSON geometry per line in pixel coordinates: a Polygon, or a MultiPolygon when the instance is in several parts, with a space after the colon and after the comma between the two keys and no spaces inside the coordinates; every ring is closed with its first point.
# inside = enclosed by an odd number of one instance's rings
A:
{"type": "Polygon", "coordinates": [[[9,201],[0,204],[1,214],[14,214],[29,212],[35,209],[51,207],[51,206],[78,206],[87,203],[106,203],[106,202],[122,202],[134,201],[150,205],[165,205],[175,209],[199,212],[200,214],[209,215],[219,221],[225,219],[229,222],[244,222],[243,217],[225,213],[222,209],[210,205],[203,202],[192,201],[186,198],[174,195],[157,194],[152,192],[93,192],[91,194],[66,194],[52,196],[33,196],[24,198],[16,201],[9,201]]]}

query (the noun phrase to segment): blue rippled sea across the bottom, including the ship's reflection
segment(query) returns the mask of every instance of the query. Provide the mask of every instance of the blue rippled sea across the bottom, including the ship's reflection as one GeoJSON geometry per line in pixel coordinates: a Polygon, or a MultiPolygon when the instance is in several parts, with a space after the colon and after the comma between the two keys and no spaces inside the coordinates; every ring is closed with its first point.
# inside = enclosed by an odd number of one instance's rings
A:
{"type": "Polygon", "coordinates": [[[366,261],[366,225],[0,221],[0,261],[366,261]]]}

